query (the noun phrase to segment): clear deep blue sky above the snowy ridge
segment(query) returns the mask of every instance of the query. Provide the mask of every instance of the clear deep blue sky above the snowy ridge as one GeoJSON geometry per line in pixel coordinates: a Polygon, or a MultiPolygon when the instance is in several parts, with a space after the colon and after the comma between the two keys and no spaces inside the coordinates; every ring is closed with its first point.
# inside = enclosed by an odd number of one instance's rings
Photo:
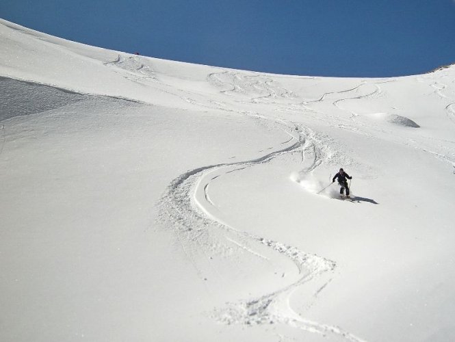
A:
{"type": "Polygon", "coordinates": [[[455,63],[455,0],[1,0],[0,17],[97,47],[268,73],[387,77],[455,63]]]}

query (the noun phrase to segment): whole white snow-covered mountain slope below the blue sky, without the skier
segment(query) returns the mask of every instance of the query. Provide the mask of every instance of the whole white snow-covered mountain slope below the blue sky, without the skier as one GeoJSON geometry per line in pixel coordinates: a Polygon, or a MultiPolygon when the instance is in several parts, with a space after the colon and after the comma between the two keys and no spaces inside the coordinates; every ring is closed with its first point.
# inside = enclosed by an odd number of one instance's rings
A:
{"type": "Polygon", "coordinates": [[[0,47],[2,341],[455,339],[454,67],[0,47]]]}

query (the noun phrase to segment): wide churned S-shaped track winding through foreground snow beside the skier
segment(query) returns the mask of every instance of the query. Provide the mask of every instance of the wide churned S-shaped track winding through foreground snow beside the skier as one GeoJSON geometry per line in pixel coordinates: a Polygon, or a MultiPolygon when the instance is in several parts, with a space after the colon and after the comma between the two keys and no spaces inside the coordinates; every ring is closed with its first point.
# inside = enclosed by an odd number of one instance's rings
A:
{"type": "MultiPolygon", "coordinates": [[[[267,120],[265,118],[262,119],[267,120]]],[[[296,124],[288,124],[286,122],[280,122],[280,124],[285,125],[286,129],[293,133],[294,130],[297,131],[296,124]]],[[[245,244],[262,244],[267,246],[285,255],[285,257],[298,267],[298,278],[290,285],[266,293],[259,298],[241,300],[237,303],[227,303],[225,308],[217,308],[211,314],[217,321],[224,324],[244,324],[248,326],[281,323],[300,328],[307,332],[322,335],[335,334],[342,339],[346,339],[346,341],[363,341],[337,326],[319,324],[303,319],[289,306],[291,293],[305,283],[322,276],[322,274],[333,272],[336,267],[334,261],[302,252],[298,248],[287,246],[278,241],[272,241],[264,237],[238,231],[233,226],[223,222],[211,210],[213,208],[213,202],[211,202],[208,196],[208,186],[213,179],[218,178],[222,174],[244,170],[245,168],[261,163],[268,163],[272,159],[288,153],[302,153],[303,155],[304,151],[307,150],[314,156],[313,165],[307,171],[311,172],[315,167],[320,165],[322,163],[321,154],[323,151],[322,148],[318,148],[318,153],[315,153],[317,141],[314,140],[314,133],[307,128],[300,128],[300,131],[306,137],[300,133],[298,137],[293,135],[293,138],[288,141],[289,146],[268,153],[263,157],[247,161],[203,166],[181,174],[168,185],[166,192],[158,202],[159,220],[164,226],[172,226],[181,248],[188,259],[190,259],[198,276],[203,280],[206,280],[203,271],[205,267],[209,267],[222,278],[219,270],[214,269],[211,265],[205,265],[205,261],[209,260],[209,257],[207,257],[207,253],[209,252],[224,254],[224,256],[229,257],[232,254],[232,247],[226,246],[225,241],[232,241],[230,237],[244,241],[245,244]],[[296,142],[292,144],[292,140],[296,140],[296,142]],[[215,173],[217,175],[213,176],[215,173]],[[205,179],[207,181],[204,183],[205,179]],[[198,193],[200,196],[196,196],[198,193]],[[197,258],[197,254],[201,253],[204,254],[204,257],[197,258]]],[[[252,252],[257,257],[262,257],[246,247],[239,246],[238,244],[236,246],[252,252]]]]}

